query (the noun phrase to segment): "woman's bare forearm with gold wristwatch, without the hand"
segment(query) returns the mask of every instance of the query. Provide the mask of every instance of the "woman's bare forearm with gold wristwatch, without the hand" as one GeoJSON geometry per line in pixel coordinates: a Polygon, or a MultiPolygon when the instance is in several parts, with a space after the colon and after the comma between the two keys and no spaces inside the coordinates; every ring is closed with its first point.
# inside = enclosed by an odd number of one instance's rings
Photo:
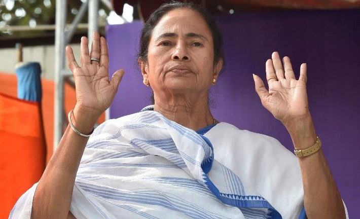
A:
{"type": "MultiPolygon", "coordinates": [[[[310,117],[287,126],[294,147],[306,149],[316,140],[310,117]],[[299,129],[304,129],[299,130],[299,129]],[[306,131],[306,130],[307,131],[306,131]]],[[[326,147],[326,145],[325,145],[326,147]]],[[[299,158],[304,187],[304,205],[308,218],[345,218],[344,205],[329,166],[321,149],[313,155],[299,158]]]]}

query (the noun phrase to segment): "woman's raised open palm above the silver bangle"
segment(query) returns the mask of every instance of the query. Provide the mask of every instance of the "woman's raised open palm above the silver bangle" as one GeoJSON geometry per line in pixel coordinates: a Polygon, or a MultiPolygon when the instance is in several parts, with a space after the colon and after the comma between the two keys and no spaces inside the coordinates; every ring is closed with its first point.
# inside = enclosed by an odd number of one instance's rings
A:
{"type": "Polygon", "coordinates": [[[94,115],[95,120],[108,108],[118,90],[124,70],[117,70],[109,80],[109,54],[106,40],[98,32],[93,33],[89,54],[88,39],[81,38],[81,66],[74,57],[73,49],[66,47],[68,66],[73,72],[76,86],[77,108],[94,115]],[[97,60],[94,60],[97,59],[97,60]]]}

